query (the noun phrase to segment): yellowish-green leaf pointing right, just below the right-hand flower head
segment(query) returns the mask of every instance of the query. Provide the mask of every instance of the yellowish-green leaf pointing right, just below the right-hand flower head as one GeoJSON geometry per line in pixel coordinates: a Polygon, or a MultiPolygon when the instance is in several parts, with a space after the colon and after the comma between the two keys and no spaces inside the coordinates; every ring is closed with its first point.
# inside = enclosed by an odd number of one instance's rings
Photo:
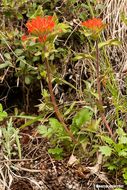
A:
{"type": "Polygon", "coordinates": [[[104,42],[100,42],[98,44],[98,47],[100,49],[100,48],[105,47],[105,46],[112,46],[112,45],[118,46],[118,45],[121,45],[121,44],[122,44],[122,42],[120,42],[117,39],[110,39],[110,40],[107,40],[107,41],[104,41],[104,42]]]}

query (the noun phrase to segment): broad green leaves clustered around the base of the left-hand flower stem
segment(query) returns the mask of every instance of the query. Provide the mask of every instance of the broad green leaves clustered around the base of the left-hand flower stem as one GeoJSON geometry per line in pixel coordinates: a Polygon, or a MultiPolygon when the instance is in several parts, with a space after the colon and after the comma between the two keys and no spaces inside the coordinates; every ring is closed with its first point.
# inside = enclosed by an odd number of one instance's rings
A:
{"type": "MultiPolygon", "coordinates": [[[[92,115],[93,111],[90,108],[83,108],[75,114],[72,119],[72,124],[70,125],[70,131],[72,134],[78,138],[78,143],[83,143],[85,138],[85,133],[83,131],[96,132],[95,129],[96,122],[94,121],[94,127],[92,126],[92,115]],[[90,130],[91,129],[91,130],[90,130]],[[82,136],[80,138],[80,136],[82,136]]],[[[50,140],[51,144],[55,146],[49,153],[55,155],[55,157],[61,157],[63,153],[63,145],[66,147],[73,147],[72,140],[68,133],[64,130],[62,124],[55,118],[50,118],[47,125],[38,126],[38,132],[50,140]]]]}

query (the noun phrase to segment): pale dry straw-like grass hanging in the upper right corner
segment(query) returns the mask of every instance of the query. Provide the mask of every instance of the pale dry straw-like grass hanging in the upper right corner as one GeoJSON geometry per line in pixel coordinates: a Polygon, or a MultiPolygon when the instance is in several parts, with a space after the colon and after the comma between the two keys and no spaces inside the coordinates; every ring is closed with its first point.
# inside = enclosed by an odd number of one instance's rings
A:
{"type": "MultiPolygon", "coordinates": [[[[105,3],[103,9],[103,18],[108,27],[106,30],[107,39],[119,39],[122,41],[121,46],[112,46],[108,48],[109,55],[114,59],[117,71],[122,71],[127,64],[127,26],[121,20],[121,13],[127,13],[127,0],[101,0],[105,3]]],[[[127,15],[126,15],[127,16],[127,15]]]]}

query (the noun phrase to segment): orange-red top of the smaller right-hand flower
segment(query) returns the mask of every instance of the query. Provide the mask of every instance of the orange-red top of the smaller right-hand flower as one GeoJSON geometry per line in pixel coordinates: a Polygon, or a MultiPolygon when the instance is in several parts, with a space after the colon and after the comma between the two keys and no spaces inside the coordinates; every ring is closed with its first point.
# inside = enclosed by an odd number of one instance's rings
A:
{"type": "Polygon", "coordinates": [[[103,22],[100,18],[93,18],[81,23],[82,26],[85,26],[88,29],[96,31],[103,27],[103,22]]]}

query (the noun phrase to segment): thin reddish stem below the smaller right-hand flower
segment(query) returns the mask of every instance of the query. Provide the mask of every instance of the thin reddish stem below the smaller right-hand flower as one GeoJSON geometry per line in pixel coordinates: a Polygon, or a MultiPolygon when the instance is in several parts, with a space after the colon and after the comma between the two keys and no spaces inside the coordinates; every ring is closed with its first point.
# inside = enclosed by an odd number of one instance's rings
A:
{"type": "Polygon", "coordinates": [[[100,84],[100,64],[99,64],[99,48],[98,48],[98,40],[96,40],[96,72],[97,72],[97,93],[98,93],[98,103],[100,107],[100,115],[102,118],[103,123],[105,124],[107,130],[109,131],[109,134],[113,136],[112,130],[106,120],[104,111],[103,111],[103,102],[102,102],[102,96],[101,96],[101,84],[100,84]]]}

